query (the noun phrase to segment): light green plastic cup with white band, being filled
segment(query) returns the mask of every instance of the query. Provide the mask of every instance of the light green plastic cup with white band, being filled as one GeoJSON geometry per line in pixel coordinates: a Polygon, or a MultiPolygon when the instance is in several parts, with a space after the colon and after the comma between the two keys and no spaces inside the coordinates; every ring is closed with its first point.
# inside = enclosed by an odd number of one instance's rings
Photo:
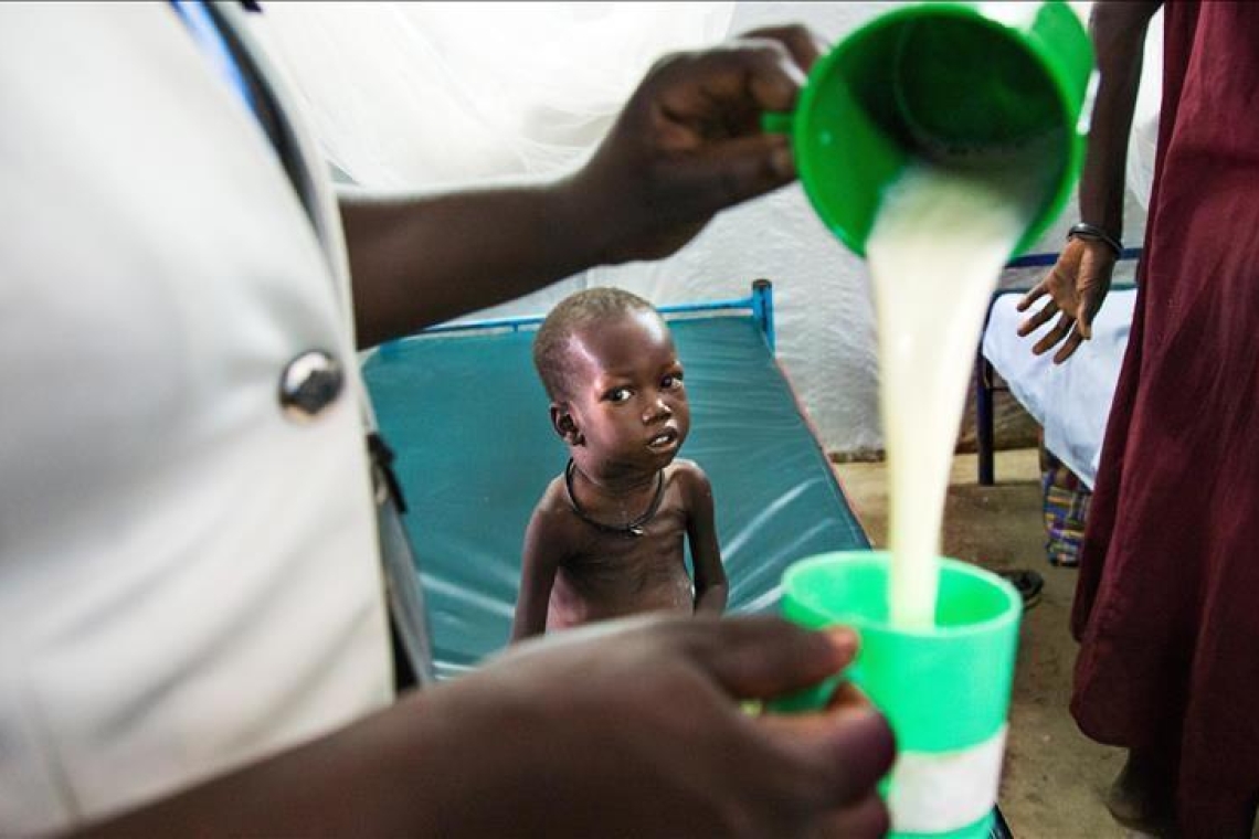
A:
{"type": "Polygon", "coordinates": [[[893,836],[985,839],[1005,753],[1022,600],[982,569],[940,560],[935,625],[888,619],[888,553],[822,553],[787,569],[782,614],[810,629],[854,628],[856,660],[844,674],[773,703],[816,709],[841,678],[883,711],[898,757],[884,782],[893,836]]]}

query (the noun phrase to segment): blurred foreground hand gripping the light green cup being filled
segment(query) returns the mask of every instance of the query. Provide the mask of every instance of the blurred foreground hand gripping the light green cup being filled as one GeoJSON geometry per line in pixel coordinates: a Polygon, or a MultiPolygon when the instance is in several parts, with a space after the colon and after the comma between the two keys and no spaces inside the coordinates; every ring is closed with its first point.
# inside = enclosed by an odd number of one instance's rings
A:
{"type": "Polygon", "coordinates": [[[407,782],[418,806],[442,803],[431,835],[880,836],[875,784],[894,748],[880,714],[850,694],[825,713],[740,708],[855,650],[846,630],[765,616],[630,619],[519,644],[419,692],[431,762],[407,782]]]}

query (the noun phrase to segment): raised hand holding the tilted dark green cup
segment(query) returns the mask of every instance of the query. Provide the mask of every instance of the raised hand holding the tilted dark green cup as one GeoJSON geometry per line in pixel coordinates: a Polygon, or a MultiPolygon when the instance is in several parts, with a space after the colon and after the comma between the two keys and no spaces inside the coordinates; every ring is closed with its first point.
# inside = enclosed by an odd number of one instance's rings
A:
{"type": "Polygon", "coordinates": [[[792,25],[661,59],[573,179],[599,260],[667,257],[719,210],[793,181],[789,141],[760,116],[794,107],[825,49],[792,25]]]}

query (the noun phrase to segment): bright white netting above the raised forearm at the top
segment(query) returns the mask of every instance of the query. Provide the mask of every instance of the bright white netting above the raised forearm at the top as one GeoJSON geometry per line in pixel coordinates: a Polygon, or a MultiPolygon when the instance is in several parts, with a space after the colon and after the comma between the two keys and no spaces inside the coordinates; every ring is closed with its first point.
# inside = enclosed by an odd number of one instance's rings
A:
{"type": "Polygon", "coordinates": [[[662,53],[731,3],[268,3],[329,158],[360,184],[550,174],[598,142],[662,53]]]}

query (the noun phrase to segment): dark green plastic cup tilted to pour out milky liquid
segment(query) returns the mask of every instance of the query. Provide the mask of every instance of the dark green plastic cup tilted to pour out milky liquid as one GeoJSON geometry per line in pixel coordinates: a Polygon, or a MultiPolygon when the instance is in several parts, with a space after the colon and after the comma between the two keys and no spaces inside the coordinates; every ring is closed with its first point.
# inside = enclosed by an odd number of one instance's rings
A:
{"type": "Polygon", "coordinates": [[[1015,252],[1032,247],[1070,197],[1084,161],[1093,45],[1075,13],[1047,3],[928,3],[854,31],[813,65],[789,133],[822,221],[865,255],[884,189],[906,165],[1010,166],[993,152],[1034,150],[1044,196],[1015,252]],[[968,162],[969,161],[969,162],[968,162]]]}

